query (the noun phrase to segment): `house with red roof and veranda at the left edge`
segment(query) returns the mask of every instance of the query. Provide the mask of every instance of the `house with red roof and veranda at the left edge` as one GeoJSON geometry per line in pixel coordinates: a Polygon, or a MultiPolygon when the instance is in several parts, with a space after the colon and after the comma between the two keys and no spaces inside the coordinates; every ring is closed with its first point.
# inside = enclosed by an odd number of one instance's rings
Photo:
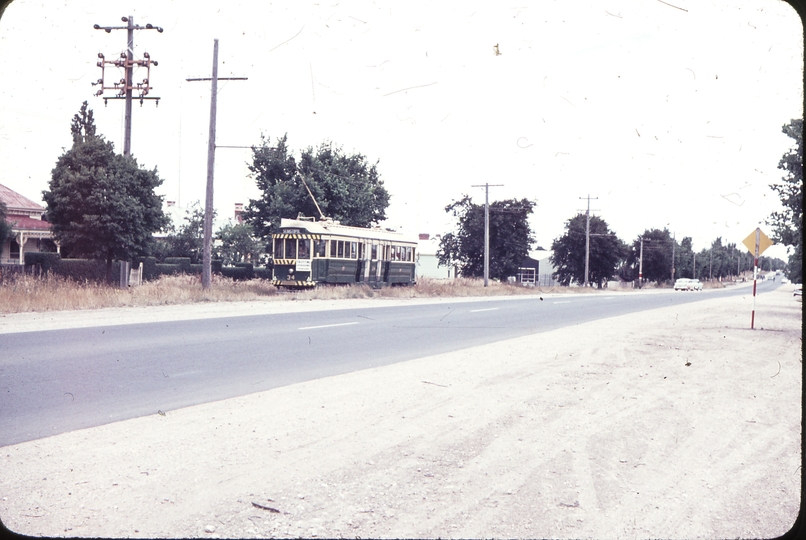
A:
{"type": "Polygon", "coordinates": [[[0,264],[24,264],[25,253],[32,251],[59,251],[50,223],[42,217],[43,206],[2,184],[0,201],[6,205],[6,221],[11,224],[11,236],[3,243],[0,264]]]}

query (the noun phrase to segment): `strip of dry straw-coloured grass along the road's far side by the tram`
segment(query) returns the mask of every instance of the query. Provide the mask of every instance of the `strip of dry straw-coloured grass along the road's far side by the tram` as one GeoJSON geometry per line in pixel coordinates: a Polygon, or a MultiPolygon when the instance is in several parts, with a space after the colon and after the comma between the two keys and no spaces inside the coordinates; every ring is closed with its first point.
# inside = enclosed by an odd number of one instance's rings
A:
{"type": "MultiPolygon", "coordinates": [[[[139,287],[121,290],[97,283],[76,283],[56,276],[35,278],[16,275],[0,285],[0,313],[63,311],[125,306],[157,306],[198,302],[248,300],[337,300],[347,298],[434,298],[470,296],[539,295],[581,293],[595,289],[581,287],[523,287],[481,279],[453,281],[420,278],[413,287],[373,289],[366,285],[317,287],[299,292],[280,292],[267,280],[233,281],[213,276],[212,287],[204,290],[199,276],[162,276],[139,287]]],[[[603,291],[604,292],[604,291],[603,291]]]]}

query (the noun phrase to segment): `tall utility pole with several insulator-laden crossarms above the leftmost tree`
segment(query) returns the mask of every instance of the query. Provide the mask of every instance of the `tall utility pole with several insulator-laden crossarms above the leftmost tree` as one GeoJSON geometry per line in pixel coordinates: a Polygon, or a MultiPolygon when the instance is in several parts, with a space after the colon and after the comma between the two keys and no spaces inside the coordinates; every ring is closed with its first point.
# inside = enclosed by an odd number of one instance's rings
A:
{"type": "Polygon", "coordinates": [[[101,26],[101,25],[93,25],[93,28],[96,30],[103,30],[107,34],[111,33],[112,30],[126,30],[127,37],[126,40],[126,52],[121,53],[120,58],[118,60],[106,60],[102,53],[98,53],[98,58],[101,60],[96,64],[99,68],[101,68],[101,78],[98,79],[96,82],[92,83],[93,86],[101,85],[101,89],[98,90],[95,95],[96,96],[103,96],[104,90],[117,90],[117,95],[113,97],[104,97],[104,105],[107,104],[107,101],[110,99],[123,99],[126,100],[126,113],[124,116],[124,129],[123,129],[123,155],[130,156],[132,150],[132,98],[133,92],[136,89],[139,92],[138,99],[140,100],[140,106],[143,106],[143,101],[146,99],[154,99],[156,100],[156,105],[159,106],[158,97],[146,97],[148,96],[149,90],[151,90],[151,65],[158,65],[156,60],[151,60],[151,57],[148,55],[147,52],[143,52],[143,60],[135,60],[134,59],[134,31],[135,30],[156,30],[160,34],[162,33],[162,28],[159,26],[154,26],[152,24],[147,24],[145,26],[136,26],[134,24],[134,17],[129,15],[128,17],[121,17],[121,20],[126,23],[126,26],[101,26]],[[106,65],[111,64],[118,68],[123,68],[124,70],[124,77],[118,82],[112,83],[112,86],[107,86],[104,80],[105,76],[105,67],[106,65]],[[134,83],[134,66],[145,67],[146,68],[146,77],[143,79],[143,82],[134,83]]]}

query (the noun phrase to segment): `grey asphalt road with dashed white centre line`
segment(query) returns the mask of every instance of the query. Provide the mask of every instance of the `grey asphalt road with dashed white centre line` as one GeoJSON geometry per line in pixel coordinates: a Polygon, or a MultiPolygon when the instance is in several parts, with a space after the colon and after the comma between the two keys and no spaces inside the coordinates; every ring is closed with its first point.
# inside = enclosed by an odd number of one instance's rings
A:
{"type": "MultiPolygon", "coordinates": [[[[759,282],[758,292],[779,285],[759,282]]],[[[513,297],[0,334],[0,446],[595,319],[748,294],[751,288],[740,287],[513,297]]]]}

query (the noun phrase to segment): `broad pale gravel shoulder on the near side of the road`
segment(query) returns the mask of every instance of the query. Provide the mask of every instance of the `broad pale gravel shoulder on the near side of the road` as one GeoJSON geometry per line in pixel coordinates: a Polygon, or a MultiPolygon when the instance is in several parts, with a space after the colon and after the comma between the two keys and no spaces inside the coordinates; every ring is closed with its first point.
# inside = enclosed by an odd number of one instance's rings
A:
{"type": "Polygon", "coordinates": [[[801,502],[793,288],[757,297],[756,330],[748,290],[6,446],[0,519],[71,537],[774,537],[801,502]]]}

